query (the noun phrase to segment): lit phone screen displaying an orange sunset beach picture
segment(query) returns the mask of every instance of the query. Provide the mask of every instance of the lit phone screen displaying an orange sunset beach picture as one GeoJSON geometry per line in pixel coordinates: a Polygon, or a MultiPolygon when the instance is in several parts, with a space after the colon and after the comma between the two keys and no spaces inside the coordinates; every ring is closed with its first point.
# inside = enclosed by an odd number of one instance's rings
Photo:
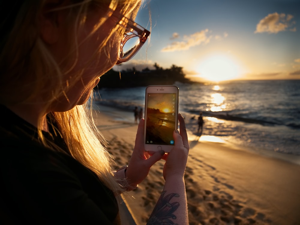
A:
{"type": "Polygon", "coordinates": [[[148,93],[145,144],[174,145],[176,93],[148,93]]]}

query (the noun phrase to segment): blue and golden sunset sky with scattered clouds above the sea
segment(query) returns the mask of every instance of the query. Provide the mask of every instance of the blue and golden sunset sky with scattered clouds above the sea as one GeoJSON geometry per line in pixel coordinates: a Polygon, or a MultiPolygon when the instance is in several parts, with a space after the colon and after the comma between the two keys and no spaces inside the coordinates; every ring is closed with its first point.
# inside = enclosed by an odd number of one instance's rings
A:
{"type": "Polygon", "coordinates": [[[145,0],[135,21],[149,42],[114,70],[157,63],[197,81],[300,79],[300,0],[145,0]]]}

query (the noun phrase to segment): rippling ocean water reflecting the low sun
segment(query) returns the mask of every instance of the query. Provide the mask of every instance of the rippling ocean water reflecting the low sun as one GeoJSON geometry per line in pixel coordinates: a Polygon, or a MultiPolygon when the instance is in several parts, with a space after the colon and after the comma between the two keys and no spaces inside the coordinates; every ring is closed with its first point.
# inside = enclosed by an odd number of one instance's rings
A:
{"type": "MultiPolygon", "coordinates": [[[[196,135],[203,115],[202,135],[252,148],[300,156],[300,80],[176,83],[179,112],[196,135]]],[[[95,104],[132,112],[144,107],[146,87],[101,88],[95,104]]],[[[133,116],[132,116],[133,119],[133,116]]]]}

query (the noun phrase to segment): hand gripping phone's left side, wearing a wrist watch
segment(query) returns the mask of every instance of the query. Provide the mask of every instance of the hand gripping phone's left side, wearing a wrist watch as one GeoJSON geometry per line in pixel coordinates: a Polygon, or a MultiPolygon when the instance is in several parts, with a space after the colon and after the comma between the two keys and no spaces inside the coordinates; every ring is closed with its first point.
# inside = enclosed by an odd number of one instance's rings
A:
{"type": "Polygon", "coordinates": [[[134,151],[131,155],[126,176],[128,184],[135,186],[141,183],[148,175],[151,166],[160,160],[165,152],[163,150],[155,152],[150,156],[144,147],[144,119],[141,119],[137,128],[137,136],[135,139],[134,151]]]}

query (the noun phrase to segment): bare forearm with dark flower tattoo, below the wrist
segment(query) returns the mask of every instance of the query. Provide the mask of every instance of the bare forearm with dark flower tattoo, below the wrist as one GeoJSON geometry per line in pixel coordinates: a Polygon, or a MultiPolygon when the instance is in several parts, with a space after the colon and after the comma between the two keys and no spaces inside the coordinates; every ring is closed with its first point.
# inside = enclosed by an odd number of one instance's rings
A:
{"type": "Polygon", "coordinates": [[[164,190],[153,209],[147,225],[167,220],[169,224],[188,224],[187,198],[184,179],[173,176],[166,179],[164,190]]]}

